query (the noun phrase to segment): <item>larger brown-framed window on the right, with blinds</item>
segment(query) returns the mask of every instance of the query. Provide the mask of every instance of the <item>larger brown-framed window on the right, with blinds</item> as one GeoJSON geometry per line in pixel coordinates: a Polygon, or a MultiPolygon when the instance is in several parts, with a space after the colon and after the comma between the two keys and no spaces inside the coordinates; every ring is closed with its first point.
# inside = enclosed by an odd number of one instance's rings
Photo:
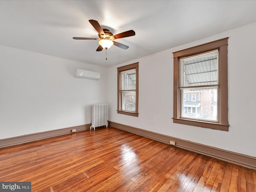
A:
{"type": "Polygon", "coordinates": [[[174,52],[173,57],[173,122],[228,131],[228,38],[174,52]]]}

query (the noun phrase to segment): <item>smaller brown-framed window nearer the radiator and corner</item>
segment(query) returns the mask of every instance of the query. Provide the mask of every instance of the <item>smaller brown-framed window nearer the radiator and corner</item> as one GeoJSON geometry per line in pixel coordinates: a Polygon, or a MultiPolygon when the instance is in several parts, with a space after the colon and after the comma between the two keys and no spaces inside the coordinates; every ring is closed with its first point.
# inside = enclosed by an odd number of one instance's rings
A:
{"type": "Polygon", "coordinates": [[[117,113],[138,117],[139,63],[117,68],[117,113]]]}

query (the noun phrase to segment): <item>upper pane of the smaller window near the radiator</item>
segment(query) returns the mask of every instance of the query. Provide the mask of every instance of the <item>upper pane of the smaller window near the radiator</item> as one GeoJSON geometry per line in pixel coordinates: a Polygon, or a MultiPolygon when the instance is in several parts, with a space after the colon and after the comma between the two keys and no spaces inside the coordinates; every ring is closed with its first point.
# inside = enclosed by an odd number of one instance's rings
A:
{"type": "Polygon", "coordinates": [[[136,89],[136,69],[121,72],[122,84],[121,90],[136,89]]]}

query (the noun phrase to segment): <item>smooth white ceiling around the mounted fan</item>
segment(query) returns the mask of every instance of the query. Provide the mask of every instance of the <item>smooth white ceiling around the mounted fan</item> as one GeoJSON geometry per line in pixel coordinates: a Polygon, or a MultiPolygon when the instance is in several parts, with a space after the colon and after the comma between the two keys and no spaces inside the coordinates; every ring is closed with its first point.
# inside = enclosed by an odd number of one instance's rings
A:
{"type": "Polygon", "coordinates": [[[0,0],[0,44],[98,66],[114,66],[256,22],[256,0],[0,0]],[[134,30],[96,52],[88,20],[113,34],[134,30]]]}

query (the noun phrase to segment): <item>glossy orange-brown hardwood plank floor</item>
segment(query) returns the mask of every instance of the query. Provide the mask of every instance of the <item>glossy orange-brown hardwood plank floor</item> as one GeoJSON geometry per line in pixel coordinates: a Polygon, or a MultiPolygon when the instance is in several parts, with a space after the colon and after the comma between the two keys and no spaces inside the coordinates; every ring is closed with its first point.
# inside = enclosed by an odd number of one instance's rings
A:
{"type": "Polygon", "coordinates": [[[256,170],[111,127],[0,148],[0,165],[32,192],[256,192],[256,170]]]}

